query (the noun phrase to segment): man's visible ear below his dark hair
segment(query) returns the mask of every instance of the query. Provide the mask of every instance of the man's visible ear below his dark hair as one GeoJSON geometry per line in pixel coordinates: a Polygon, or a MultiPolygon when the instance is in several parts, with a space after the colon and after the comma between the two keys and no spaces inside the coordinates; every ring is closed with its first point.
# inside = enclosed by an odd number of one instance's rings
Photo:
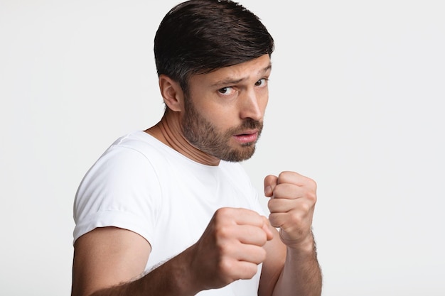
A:
{"type": "Polygon", "coordinates": [[[159,89],[163,102],[172,111],[183,111],[184,94],[178,82],[167,75],[159,75],[159,89]]]}

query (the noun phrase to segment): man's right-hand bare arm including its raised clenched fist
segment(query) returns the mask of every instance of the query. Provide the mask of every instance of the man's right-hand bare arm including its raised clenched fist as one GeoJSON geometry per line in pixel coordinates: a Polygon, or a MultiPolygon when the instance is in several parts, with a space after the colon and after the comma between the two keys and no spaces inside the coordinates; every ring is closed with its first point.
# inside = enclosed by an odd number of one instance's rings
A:
{"type": "Polygon", "coordinates": [[[259,295],[321,295],[321,270],[311,231],[316,184],[296,172],[264,179],[269,220],[278,227],[267,243],[259,295]]]}

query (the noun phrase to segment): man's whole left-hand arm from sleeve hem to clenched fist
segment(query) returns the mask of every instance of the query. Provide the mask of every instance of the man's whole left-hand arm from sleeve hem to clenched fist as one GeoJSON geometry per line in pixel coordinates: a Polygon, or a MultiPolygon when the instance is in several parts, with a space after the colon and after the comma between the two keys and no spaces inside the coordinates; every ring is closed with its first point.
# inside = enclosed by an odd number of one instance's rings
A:
{"type": "Polygon", "coordinates": [[[195,295],[252,278],[272,239],[269,222],[247,209],[219,209],[197,243],[144,275],[150,244],[105,227],[75,242],[72,296],[195,295]]]}

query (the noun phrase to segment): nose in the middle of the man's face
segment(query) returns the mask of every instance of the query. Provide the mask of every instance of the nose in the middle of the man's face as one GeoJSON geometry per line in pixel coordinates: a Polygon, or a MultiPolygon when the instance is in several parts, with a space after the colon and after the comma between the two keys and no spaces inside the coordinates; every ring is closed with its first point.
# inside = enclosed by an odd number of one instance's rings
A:
{"type": "Polygon", "coordinates": [[[262,120],[266,104],[267,94],[258,94],[254,89],[245,91],[240,98],[240,118],[262,120]]]}

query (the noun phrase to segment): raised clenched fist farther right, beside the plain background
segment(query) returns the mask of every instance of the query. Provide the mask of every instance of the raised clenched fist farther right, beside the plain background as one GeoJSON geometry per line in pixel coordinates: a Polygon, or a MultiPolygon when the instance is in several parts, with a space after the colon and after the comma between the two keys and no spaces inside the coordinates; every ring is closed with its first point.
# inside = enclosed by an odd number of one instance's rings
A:
{"type": "Polygon", "coordinates": [[[268,202],[269,221],[279,227],[286,246],[301,248],[312,243],[313,209],[316,203],[316,182],[296,172],[282,172],[264,178],[264,194],[268,202]]]}

